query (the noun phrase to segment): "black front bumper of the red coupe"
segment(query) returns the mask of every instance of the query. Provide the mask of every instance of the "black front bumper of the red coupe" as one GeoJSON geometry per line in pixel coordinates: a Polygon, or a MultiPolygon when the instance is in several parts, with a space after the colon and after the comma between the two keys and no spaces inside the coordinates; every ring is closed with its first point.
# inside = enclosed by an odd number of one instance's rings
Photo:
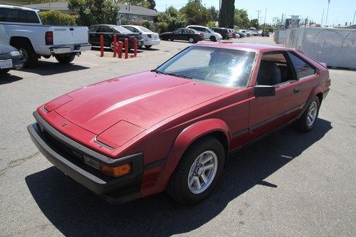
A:
{"type": "Polygon", "coordinates": [[[36,147],[55,167],[107,201],[125,203],[140,197],[144,169],[142,153],[119,159],[105,157],[103,154],[84,147],[82,144],[69,139],[55,130],[43,120],[38,112],[33,112],[33,116],[37,122],[28,125],[27,130],[36,147]],[[78,158],[78,154],[90,157],[110,167],[130,162],[132,172],[119,178],[108,177],[97,169],[85,164],[78,158]]]}

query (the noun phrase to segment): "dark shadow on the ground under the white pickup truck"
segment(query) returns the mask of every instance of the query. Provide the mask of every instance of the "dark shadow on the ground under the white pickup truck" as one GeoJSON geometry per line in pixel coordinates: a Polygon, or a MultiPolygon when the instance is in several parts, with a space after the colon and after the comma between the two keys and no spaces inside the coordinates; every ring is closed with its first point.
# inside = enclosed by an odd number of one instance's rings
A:
{"type": "Polygon", "coordinates": [[[88,69],[88,67],[83,65],[75,64],[75,59],[73,60],[73,63],[69,64],[39,60],[34,68],[21,68],[20,70],[38,75],[55,75],[59,73],[68,73],[74,70],[88,69]]]}

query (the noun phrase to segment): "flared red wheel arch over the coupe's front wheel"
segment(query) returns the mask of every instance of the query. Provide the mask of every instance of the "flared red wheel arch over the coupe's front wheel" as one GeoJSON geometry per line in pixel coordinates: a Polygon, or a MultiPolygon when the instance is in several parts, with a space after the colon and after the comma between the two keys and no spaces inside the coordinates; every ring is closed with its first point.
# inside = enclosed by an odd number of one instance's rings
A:
{"type": "Polygon", "coordinates": [[[189,127],[186,127],[179,133],[172,147],[169,149],[159,181],[159,186],[161,186],[162,190],[166,188],[184,152],[186,152],[194,142],[209,136],[215,137],[221,142],[225,149],[225,158],[227,158],[231,133],[229,132],[229,127],[226,125],[226,122],[220,119],[208,119],[189,125],[189,127]]]}

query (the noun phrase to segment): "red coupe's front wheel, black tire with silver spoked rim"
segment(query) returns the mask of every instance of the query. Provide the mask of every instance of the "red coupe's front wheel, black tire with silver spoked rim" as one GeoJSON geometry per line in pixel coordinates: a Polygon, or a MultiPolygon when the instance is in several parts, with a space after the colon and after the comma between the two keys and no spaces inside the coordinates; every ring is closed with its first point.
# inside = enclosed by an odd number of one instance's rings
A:
{"type": "Polygon", "coordinates": [[[167,194],[181,204],[196,204],[214,189],[224,171],[225,149],[215,137],[194,142],[179,161],[167,194]]]}

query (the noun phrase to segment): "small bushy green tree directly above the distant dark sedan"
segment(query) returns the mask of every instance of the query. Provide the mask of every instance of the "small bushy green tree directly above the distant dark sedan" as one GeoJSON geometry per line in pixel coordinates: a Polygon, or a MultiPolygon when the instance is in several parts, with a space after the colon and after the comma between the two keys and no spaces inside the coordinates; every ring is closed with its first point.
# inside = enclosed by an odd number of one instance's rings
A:
{"type": "Polygon", "coordinates": [[[161,12],[158,15],[159,31],[174,31],[177,28],[186,26],[186,19],[173,6],[169,6],[166,11],[161,12]]]}

